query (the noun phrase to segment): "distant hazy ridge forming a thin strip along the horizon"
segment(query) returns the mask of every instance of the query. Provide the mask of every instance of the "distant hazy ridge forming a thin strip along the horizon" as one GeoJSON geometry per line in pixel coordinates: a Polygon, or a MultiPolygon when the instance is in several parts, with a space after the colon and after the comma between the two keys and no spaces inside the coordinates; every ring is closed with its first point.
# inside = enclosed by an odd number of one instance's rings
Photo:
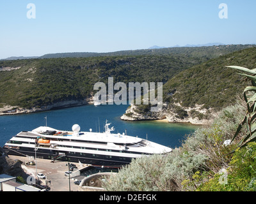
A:
{"type": "Polygon", "coordinates": [[[110,57],[110,56],[133,56],[133,55],[172,55],[172,56],[194,56],[204,57],[208,56],[208,59],[218,57],[219,55],[225,55],[230,52],[242,50],[244,48],[252,47],[252,45],[221,45],[221,43],[208,43],[205,45],[186,45],[180,47],[158,47],[153,46],[148,49],[141,50],[122,50],[117,52],[67,52],[56,54],[45,54],[38,57],[8,57],[2,60],[17,60],[17,59],[50,59],[50,58],[66,58],[66,57],[110,57]],[[218,45],[220,44],[220,45],[218,45]]]}

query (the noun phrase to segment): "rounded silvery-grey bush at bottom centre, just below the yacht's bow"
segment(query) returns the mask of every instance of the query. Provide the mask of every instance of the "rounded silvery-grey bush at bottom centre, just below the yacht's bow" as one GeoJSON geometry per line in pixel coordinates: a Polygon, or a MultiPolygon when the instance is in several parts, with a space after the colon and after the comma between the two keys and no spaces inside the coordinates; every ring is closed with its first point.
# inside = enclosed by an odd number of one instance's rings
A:
{"type": "Polygon", "coordinates": [[[184,176],[192,175],[204,161],[202,154],[180,154],[179,149],[168,155],[143,156],[133,159],[104,187],[107,191],[180,191],[184,176]]]}

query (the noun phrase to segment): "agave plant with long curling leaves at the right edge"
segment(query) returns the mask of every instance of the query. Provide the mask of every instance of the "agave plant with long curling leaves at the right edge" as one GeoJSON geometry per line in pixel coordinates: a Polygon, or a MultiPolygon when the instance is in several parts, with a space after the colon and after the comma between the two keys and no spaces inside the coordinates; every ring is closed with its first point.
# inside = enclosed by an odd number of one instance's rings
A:
{"type": "Polygon", "coordinates": [[[248,86],[244,89],[243,97],[246,101],[247,112],[243,119],[243,122],[239,124],[237,131],[232,138],[231,142],[237,137],[246,124],[247,133],[238,143],[239,147],[246,146],[249,142],[256,140],[256,69],[243,68],[241,66],[227,66],[228,68],[236,69],[239,71],[239,75],[243,75],[252,81],[252,86],[248,86]],[[246,72],[246,73],[244,73],[246,72]],[[247,74],[248,73],[248,74],[247,74]]]}

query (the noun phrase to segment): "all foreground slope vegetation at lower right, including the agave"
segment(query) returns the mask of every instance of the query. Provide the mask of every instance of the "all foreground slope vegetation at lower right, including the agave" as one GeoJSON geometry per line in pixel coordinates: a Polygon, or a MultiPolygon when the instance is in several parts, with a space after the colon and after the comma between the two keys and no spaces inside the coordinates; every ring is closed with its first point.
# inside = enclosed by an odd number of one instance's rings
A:
{"type": "Polygon", "coordinates": [[[141,157],[106,182],[108,191],[256,191],[255,69],[237,66],[252,82],[243,99],[221,110],[182,147],[141,157]],[[244,73],[246,72],[246,73],[244,73]],[[249,73],[249,74],[248,74],[249,73]],[[245,115],[245,116],[244,116],[245,115]]]}

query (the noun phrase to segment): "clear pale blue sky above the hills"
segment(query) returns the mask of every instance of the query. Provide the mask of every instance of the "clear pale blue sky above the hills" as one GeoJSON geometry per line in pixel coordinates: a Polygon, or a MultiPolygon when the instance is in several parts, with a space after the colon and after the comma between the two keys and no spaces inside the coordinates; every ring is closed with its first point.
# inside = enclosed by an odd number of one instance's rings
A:
{"type": "Polygon", "coordinates": [[[255,8],[255,0],[0,0],[0,59],[252,44],[255,8]]]}

